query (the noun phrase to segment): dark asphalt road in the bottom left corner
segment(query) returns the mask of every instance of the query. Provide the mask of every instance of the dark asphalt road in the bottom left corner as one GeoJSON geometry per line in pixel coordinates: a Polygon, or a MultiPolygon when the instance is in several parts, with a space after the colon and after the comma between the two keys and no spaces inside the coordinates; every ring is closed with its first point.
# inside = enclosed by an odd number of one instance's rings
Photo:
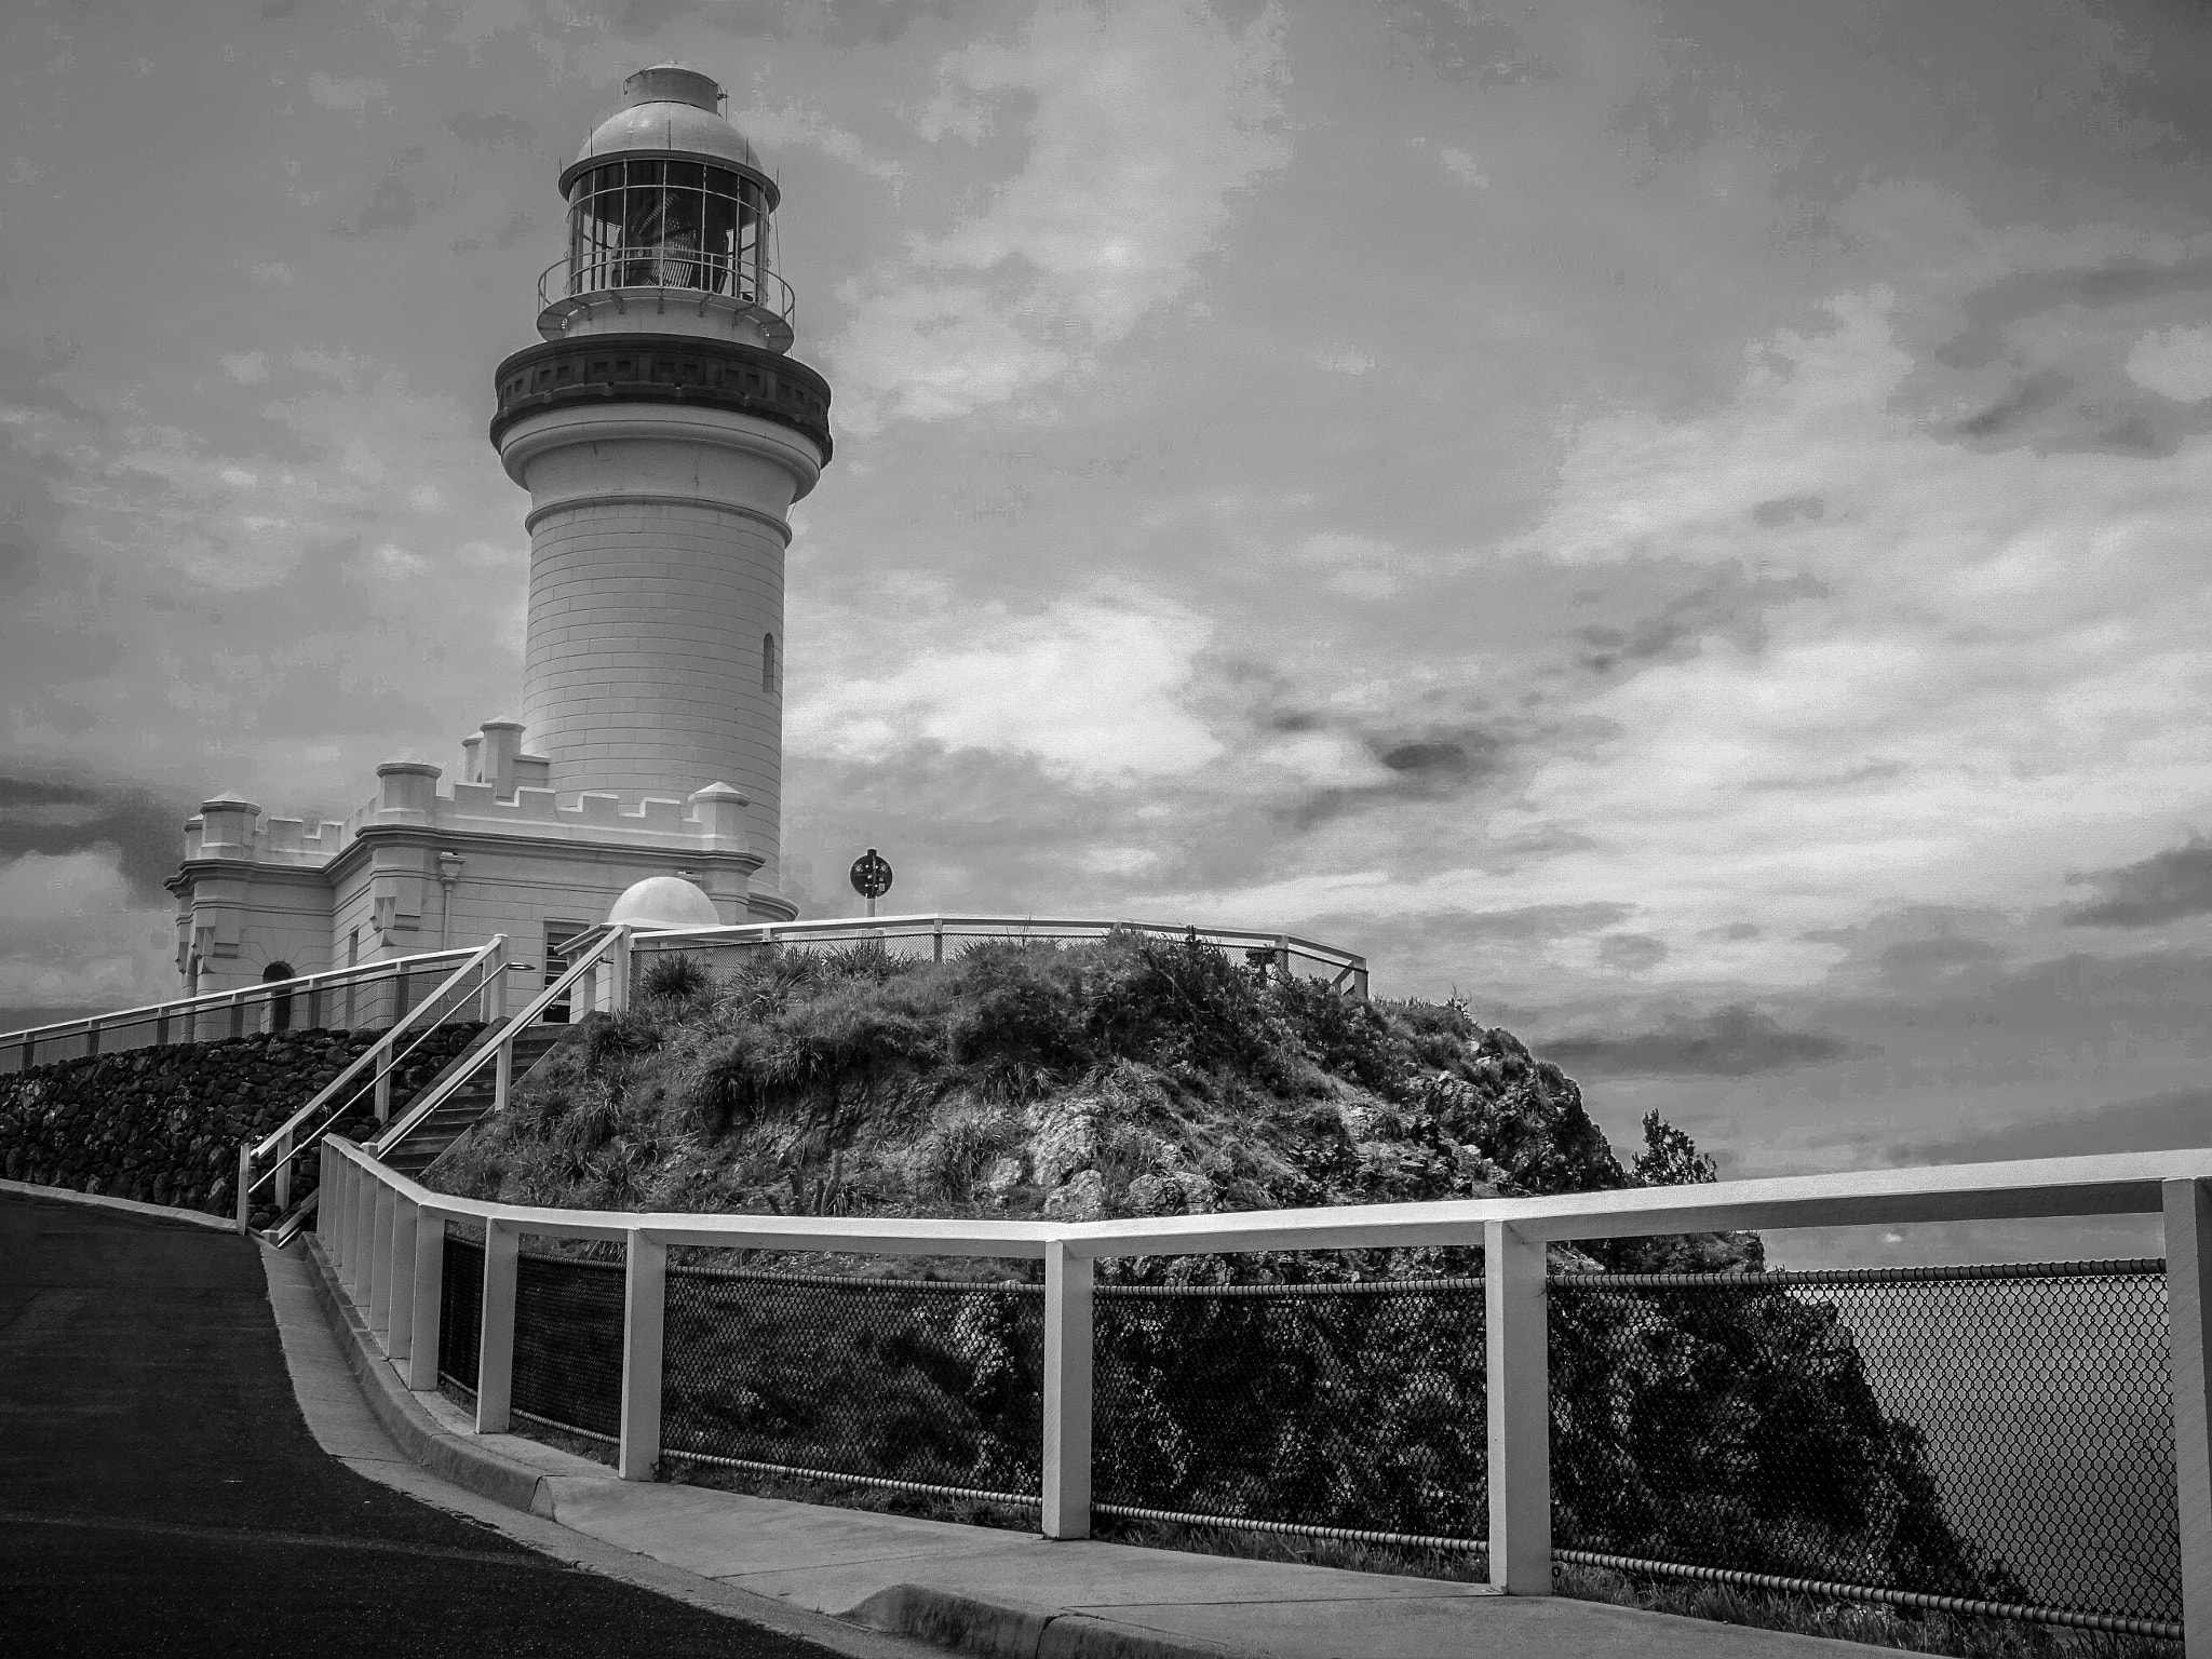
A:
{"type": "Polygon", "coordinates": [[[825,1652],[356,1475],[301,1420],[254,1245],[18,1194],[0,1194],[0,1650],[825,1652]]]}

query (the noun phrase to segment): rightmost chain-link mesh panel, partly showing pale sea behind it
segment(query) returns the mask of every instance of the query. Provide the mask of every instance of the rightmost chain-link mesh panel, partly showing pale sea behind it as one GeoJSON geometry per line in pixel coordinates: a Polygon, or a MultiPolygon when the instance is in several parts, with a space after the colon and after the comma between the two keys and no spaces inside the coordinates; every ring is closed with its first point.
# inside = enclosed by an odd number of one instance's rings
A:
{"type": "Polygon", "coordinates": [[[1559,1559],[2181,1617],[2159,1261],[1557,1274],[1551,1398],[1559,1559]]]}

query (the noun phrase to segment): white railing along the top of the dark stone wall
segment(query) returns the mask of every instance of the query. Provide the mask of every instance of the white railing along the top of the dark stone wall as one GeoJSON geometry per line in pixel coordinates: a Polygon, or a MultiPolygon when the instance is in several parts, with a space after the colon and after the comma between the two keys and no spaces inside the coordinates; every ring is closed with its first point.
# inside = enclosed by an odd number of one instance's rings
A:
{"type": "Polygon", "coordinates": [[[312,1031],[341,1026],[374,1031],[407,1015],[420,993],[467,962],[473,951],[422,951],[383,962],[361,962],[327,973],[201,991],[148,1002],[139,1009],[93,1013],[0,1035],[0,1075],[55,1060],[166,1048],[173,1042],[221,1042],[257,1031],[312,1031]]]}

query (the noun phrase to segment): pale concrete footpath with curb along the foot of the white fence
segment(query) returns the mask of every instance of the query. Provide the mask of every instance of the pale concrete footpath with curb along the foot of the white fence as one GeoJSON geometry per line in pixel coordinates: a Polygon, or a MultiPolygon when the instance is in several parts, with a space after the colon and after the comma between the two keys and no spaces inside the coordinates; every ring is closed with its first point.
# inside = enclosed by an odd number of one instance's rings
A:
{"type": "MultiPolygon", "coordinates": [[[[1893,1648],[1772,1635],[1438,1579],[1345,1573],[615,1480],[520,1436],[476,1436],[411,1394],[336,1290],[319,1245],[268,1252],[288,1332],[314,1296],[378,1425],[405,1455],[571,1537],[794,1617],[920,1637],[993,1659],[1849,1659],[1893,1648]]],[[[303,1385],[305,1387],[305,1385],[303,1385]]],[[[323,1396],[316,1387],[307,1400],[323,1396]]],[[[818,1628],[818,1626],[816,1626],[818,1628]]],[[[860,1635],[854,1630],[854,1635],[860,1635]]]]}

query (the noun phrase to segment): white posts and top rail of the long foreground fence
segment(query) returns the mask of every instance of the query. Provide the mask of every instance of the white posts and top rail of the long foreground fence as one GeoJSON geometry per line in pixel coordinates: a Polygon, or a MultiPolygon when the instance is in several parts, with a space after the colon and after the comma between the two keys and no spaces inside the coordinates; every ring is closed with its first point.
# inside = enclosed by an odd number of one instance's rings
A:
{"type": "Polygon", "coordinates": [[[323,1141],[316,1219],[367,1327],[414,1389],[438,1387],[445,1223],[484,1230],[476,1429],[511,1420],[515,1270],[524,1234],[624,1245],[617,1473],[661,1458],[661,1327],[670,1245],[1044,1263],[1046,1537],[1091,1533],[1093,1263],[1252,1250],[1482,1245],[1489,1383],[1489,1573],[1551,1593],[1546,1245],[1679,1232],[2154,1214],[2166,1237],[2172,1449],[2188,1659],[2212,1659],[2212,1150],[1632,1188],[1533,1199],[1256,1210],[1128,1221],[927,1221],[635,1214],[478,1203],[431,1192],[363,1148],[323,1141]]]}

